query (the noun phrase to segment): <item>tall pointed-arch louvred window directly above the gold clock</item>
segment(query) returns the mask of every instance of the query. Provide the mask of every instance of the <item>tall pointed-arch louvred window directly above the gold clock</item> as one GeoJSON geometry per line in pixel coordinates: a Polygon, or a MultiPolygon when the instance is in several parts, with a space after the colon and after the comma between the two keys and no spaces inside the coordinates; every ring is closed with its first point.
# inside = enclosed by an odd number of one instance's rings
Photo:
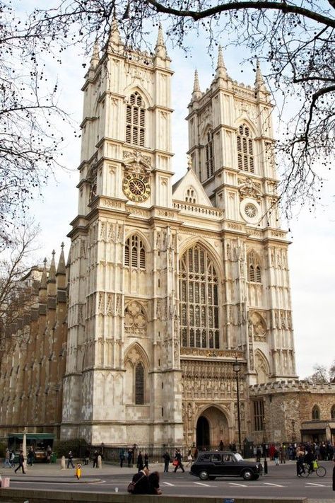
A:
{"type": "Polygon", "coordinates": [[[126,143],[144,146],[146,138],[146,108],[136,91],[129,96],[126,112],[126,143]]]}

